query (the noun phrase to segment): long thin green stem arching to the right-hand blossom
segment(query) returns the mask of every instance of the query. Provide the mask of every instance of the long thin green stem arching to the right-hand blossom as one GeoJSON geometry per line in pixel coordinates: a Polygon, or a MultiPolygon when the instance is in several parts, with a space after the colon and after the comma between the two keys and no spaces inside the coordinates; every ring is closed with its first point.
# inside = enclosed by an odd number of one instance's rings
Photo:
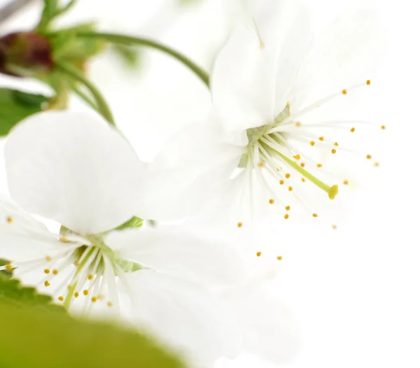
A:
{"type": "Polygon", "coordinates": [[[179,62],[183,63],[191,71],[193,71],[207,85],[207,87],[210,86],[209,73],[207,73],[207,71],[202,69],[200,66],[195,64],[195,62],[188,59],[188,57],[182,55],[176,50],[169,48],[165,45],[162,45],[161,43],[158,43],[151,39],[139,38],[139,37],[133,37],[133,36],[124,36],[121,34],[96,33],[96,32],[87,32],[87,31],[76,32],[75,36],[80,37],[80,38],[102,39],[104,41],[117,43],[119,45],[126,45],[126,46],[138,45],[138,46],[147,46],[149,48],[155,48],[156,50],[165,52],[166,54],[171,55],[175,59],[178,59],[179,62]]]}

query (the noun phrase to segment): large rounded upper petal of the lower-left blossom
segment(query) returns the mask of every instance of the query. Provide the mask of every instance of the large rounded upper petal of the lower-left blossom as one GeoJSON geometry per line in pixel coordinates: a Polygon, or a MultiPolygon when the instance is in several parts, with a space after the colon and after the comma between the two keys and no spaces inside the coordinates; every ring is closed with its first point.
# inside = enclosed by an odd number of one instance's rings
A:
{"type": "Polygon", "coordinates": [[[109,230],[139,209],[140,162],[123,136],[93,115],[33,115],[10,133],[5,157],[13,199],[75,232],[109,230]]]}

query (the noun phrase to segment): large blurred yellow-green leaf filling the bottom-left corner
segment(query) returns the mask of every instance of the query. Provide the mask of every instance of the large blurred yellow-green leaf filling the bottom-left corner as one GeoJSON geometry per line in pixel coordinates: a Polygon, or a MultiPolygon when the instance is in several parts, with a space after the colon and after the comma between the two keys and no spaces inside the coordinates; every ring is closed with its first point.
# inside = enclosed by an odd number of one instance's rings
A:
{"type": "Polygon", "coordinates": [[[152,339],[121,327],[0,304],[0,367],[182,368],[152,339]]]}

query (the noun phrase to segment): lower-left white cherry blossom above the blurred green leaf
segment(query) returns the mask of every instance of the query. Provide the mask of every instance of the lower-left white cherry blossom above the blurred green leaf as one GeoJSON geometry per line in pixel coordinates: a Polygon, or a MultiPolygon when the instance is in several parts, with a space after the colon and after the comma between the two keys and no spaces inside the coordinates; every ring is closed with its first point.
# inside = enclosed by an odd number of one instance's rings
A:
{"type": "Polygon", "coordinates": [[[239,353],[241,327],[211,288],[243,283],[241,256],[185,227],[116,229],[146,215],[148,178],[115,129],[85,114],[41,113],[13,129],[5,157],[20,208],[0,202],[2,269],[76,313],[124,315],[194,362],[239,353]]]}

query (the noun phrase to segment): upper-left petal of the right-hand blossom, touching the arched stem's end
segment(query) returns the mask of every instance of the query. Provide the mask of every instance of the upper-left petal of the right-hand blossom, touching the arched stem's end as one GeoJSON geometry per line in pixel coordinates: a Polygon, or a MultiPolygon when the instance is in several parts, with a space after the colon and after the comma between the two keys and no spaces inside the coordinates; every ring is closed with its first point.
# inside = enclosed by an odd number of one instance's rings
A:
{"type": "Polygon", "coordinates": [[[235,29],[211,74],[214,107],[226,129],[259,127],[274,118],[274,64],[251,27],[235,29]]]}

